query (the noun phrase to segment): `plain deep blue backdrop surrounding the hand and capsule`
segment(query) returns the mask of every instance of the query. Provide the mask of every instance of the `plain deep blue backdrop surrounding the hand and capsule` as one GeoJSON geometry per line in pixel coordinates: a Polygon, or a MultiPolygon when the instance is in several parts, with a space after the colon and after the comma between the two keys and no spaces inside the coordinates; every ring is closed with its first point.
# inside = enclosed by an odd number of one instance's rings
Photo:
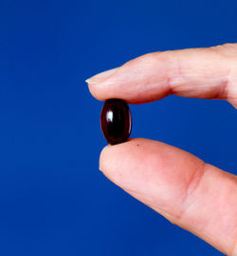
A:
{"type": "MultiPolygon", "coordinates": [[[[156,50],[237,42],[237,2],[0,2],[0,255],[222,255],[99,171],[102,103],[84,80],[156,50]]],[[[228,103],[131,106],[132,137],[236,174],[228,103]]]]}

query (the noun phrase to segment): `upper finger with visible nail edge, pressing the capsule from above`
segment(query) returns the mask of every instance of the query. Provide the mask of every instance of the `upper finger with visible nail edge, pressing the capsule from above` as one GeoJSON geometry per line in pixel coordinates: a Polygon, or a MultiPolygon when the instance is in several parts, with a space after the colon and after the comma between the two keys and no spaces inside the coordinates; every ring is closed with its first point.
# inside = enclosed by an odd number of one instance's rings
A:
{"type": "Polygon", "coordinates": [[[148,53],[86,82],[99,100],[138,104],[175,94],[225,99],[237,108],[237,44],[148,53]]]}

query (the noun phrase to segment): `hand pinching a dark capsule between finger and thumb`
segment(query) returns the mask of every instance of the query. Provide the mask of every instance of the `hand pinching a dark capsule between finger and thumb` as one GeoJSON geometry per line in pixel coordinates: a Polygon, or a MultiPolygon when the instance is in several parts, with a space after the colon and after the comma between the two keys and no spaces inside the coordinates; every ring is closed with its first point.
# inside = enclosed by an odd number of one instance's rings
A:
{"type": "MultiPolygon", "coordinates": [[[[225,99],[237,108],[237,44],[148,53],[86,82],[99,100],[139,104],[175,94],[225,99]]],[[[103,148],[100,170],[173,224],[237,255],[237,176],[140,138],[103,148]]]]}

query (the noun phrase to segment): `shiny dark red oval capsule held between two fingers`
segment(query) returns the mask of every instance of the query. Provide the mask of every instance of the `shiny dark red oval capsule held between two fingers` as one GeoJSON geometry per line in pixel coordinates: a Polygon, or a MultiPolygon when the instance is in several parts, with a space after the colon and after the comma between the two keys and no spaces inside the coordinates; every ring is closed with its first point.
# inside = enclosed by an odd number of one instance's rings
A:
{"type": "Polygon", "coordinates": [[[127,141],[132,128],[128,105],[119,99],[106,100],[100,114],[102,133],[111,145],[127,141]]]}

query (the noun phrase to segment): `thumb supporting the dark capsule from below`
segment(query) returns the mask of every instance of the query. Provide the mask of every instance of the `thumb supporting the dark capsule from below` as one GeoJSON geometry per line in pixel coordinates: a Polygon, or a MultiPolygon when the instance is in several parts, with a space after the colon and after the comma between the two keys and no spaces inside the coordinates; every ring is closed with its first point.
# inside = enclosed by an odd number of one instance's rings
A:
{"type": "Polygon", "coordinates": [[[236,176],[147,139],[105,147],[100,170],[173,224],[237,255],[236,176]]]}

